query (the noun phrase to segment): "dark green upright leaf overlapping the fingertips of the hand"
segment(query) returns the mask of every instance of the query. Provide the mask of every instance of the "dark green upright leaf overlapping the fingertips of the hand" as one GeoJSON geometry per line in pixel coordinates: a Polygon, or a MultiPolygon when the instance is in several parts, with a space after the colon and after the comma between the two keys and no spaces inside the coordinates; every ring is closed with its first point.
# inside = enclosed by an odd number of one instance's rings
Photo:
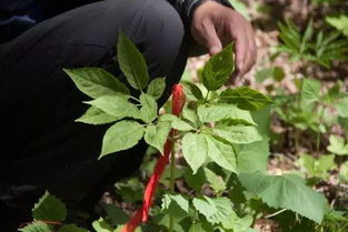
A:
{"type": "Polygon", "coordinates": [[[232,44],[227,46],[222,51],[211,57],[203,67],[203,85],[215,91],[220,89],[235,70],[232,44]]]}

